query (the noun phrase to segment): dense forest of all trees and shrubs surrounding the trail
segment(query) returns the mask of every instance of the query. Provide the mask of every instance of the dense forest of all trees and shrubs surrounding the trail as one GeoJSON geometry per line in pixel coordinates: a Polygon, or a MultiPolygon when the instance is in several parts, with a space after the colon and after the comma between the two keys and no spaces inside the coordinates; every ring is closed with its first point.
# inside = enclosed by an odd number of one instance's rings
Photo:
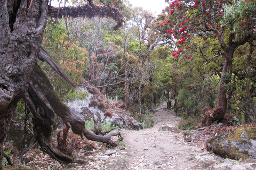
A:
{"type": "Polygon", "coordinates": [[[182,129],[255,122],[253,0],[165,0],[157,16],[127,0],[1,2],[1,148],[17,121],[60,163],[83,162],[51,143],[60,119],[82,139],[116,146],[110,138],[118,131],[95,135],[65,105],[87,96],[79,84],[122,101],[141,123],[163,102],[182,117],[182,129]]]}

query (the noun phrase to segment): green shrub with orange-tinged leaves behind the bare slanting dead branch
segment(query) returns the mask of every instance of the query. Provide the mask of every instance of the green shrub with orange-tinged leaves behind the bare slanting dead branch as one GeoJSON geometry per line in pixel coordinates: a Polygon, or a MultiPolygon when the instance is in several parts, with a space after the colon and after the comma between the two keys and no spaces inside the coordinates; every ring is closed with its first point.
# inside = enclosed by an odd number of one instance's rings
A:
{"type": "MultiPolygon", "coordinates": [[[[79,47],[79,41],[68,37],[64,20],[58,22],[52,19],[48,20],[42,46],[60,64],[75,84],[80,84],[83,81],[82,73],[86,72],[88,53],[85,48],[79,47]]],[[[41,67],[59,95],[73,88],[47,63],[41,62],[41,67]]]]}

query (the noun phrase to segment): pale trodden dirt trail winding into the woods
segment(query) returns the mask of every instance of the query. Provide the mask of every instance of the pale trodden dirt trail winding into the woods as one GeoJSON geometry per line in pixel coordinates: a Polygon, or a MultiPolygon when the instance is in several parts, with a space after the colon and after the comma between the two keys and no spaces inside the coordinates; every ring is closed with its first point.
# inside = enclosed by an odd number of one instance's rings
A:
{"type": "MultiPolygon", "coordinates": [[[[116,163],[107,165],[110,169],[207,169],[197,155],[208,152],[189,146],[180,140],[183,133],[159,130],[162,124],[175,125],[180,117],[165,109],[164,104],[156,110],[157,123],[154,128],[140,131],[124,130],[122,135],[127,143],[116,163]]],[[[209,155],[211,156],[211,155],[209,155]]],[[[211,156],[213,158],[213,156],[211,156]]],[[[110,161],[111,162],[111,161],[110,161]]]]}

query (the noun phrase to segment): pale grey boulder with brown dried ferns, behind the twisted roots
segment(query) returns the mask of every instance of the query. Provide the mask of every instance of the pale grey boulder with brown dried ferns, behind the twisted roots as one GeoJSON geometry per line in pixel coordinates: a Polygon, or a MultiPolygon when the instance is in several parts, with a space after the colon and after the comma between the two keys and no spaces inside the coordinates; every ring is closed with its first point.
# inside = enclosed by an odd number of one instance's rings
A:
{"type": "Polygon", "coordinates": [[[84,86],[78,86],[77,90],[86,92],[88,96],[67,103],[74,114],[81,116],[85,121],[93,118],[94,123],[100,124],[108,120],[120,128],[139,130],[139,123],[125,111],[122,100],[110,102],[100,94],[99,90],[87,90],[84,86]],[[91,94],[92,91],[93,94],[91,94]]]}

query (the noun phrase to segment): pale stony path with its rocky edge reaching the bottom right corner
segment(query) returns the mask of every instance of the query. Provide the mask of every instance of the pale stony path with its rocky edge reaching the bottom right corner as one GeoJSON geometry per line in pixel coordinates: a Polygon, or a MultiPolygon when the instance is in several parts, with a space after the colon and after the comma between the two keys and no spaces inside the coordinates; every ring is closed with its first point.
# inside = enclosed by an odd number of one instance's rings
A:
{"type": "Polygon", "coordinates": [[[157,109],[155,117],[154,128],[122,131],[127,146],[115,149],[117,152],[109,157],[105,169],[255,169],[254,160],[223,159],[205,151],[205,147],[189,145],[183,140],[183,133],[159,130],[163,124],[180,121],[164,106],[157,109]]]}

